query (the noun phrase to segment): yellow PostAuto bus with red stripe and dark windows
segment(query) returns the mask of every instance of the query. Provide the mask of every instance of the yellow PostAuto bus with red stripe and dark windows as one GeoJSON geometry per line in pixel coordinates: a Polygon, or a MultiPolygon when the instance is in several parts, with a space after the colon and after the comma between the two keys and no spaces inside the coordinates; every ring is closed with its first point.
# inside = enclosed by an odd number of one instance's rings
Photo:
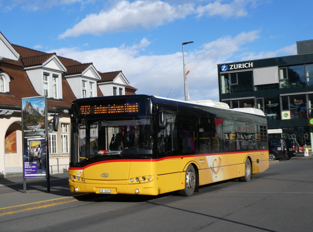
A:
{"type": "Polygon", "coordinates": [[[200,185],[249,181],[269,167],[267,121],[258,109],[121,95],[77,99],[69,112],[71,192],[189,196],[200,185]]]}

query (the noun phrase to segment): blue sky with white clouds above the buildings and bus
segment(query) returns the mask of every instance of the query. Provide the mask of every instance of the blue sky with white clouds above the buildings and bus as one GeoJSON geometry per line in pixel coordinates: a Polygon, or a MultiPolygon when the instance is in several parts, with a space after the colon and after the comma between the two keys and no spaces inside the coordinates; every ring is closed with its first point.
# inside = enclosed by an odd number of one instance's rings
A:
{"type": "Polygon", "coordinates": [[[313,39],[313,1],[0,0],[10,43],[122,70],[137,94],[218,101],[217,64],[296,54],[313,39]]]}

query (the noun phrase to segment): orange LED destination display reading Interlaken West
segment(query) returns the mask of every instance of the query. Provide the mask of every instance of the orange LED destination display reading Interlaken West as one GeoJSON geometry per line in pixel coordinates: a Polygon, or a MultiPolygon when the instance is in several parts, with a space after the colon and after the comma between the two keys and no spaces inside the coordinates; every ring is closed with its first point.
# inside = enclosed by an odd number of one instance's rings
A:
{"type": "Polygon", "coordinates": [[[108,114],[108,113],[138,113],[138,112],[139,112],[139,103],[80,106],[80,115],[108,114]]]}

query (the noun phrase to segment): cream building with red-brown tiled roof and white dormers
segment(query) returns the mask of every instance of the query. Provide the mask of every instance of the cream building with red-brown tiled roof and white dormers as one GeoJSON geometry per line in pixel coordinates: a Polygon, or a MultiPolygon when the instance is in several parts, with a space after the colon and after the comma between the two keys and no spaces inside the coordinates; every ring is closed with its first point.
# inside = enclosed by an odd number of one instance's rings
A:
{"type": "MultiPolygon", "coordinates": [[[[22,98],[46,96],[46,113],[51,121],[56,108],[68,109],[77,98],[136,94],[136,90],[122,71],[101,73],[93,63],[80,63],[56,53],[11,44],[0,32],[0,147],[3,147],[0,178],[22,174],[22,157],[36,157],[31,144],[40,144],[40,138],[23,138],[22,98]]],[[[32,107],[38,109],[36,103],[32,107]]],[[[49,123],[49,159],[67,160],[66,165],[69,163],[69,117],[61,118],[60,124],[62,129],[54,132],[49,123]]]]}

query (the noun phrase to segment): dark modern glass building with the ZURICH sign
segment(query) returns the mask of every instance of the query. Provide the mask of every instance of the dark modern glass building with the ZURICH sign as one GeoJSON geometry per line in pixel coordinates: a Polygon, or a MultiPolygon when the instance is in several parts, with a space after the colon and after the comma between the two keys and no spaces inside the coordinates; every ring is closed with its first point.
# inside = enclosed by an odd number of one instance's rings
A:
{"type": "Polygon", "coordinates": [[[218,64],[219,100],[230,108],[258,108],[269,137],[313,144],[313,40],[297,55],[218,64]]]}

